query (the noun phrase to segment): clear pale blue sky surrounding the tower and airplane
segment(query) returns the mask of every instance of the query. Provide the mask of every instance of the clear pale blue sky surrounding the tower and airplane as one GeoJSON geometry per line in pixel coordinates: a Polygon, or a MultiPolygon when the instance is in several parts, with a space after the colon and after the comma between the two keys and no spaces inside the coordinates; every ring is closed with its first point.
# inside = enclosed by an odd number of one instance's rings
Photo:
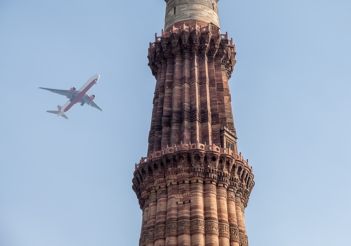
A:
{"type": "MultiPolygon", "coordinates": [[[[236,44],[239,151],[256,185],[250,246],[349,245],[349,0],[219,1],[236,44]]],[[[146,155],[147,48],[163,0],[0,1],[0,245],[138,245],[131,179],[146,155]],[[102,112],[38,89],[91,76],[102,112]]]]}

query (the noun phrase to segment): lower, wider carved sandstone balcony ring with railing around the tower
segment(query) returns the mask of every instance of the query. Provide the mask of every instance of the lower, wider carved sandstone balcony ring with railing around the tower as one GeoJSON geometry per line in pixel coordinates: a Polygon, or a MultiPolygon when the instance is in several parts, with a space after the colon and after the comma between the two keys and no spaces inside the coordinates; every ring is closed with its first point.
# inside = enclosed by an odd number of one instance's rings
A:
{"type": "MultiPolygon", "coordinates": [[[[234,153],[231,149],[215,144],[181,142],[173,147],[154,150],[150,155],[142,157],[135,164],[132,188],[141,205],[150,199],[146,197],[148,192],[145,191],[150,191],[150,186],[155,186],[153,189],[158,190],[160,180],[165,182],[167,190],[164,188],[163,191],[167,193],[177,193],[178,187],[181,187],[179,185],[190,183],[191,180],[211,182],[218,186],[223,195],[225,190],[232,190],[246,207],[254,186],[253,178],[249,160],[245,160],[241,153],[234,153]]],[[[191,200],[188,198],[189,191],[186,193],[181,194],[184,197],[178,197],[182,203],[191,200]]]]}

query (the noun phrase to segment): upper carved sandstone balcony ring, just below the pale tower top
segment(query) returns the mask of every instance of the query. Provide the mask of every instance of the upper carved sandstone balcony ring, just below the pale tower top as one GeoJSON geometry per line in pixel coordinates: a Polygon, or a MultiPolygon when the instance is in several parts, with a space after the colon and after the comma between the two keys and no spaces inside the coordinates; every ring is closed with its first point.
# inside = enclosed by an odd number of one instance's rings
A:
{"type": "Polygon", "coordinates": [[[231,77],[236,64],[235,45],[233,39],[228,40],[228,33],[221,34],[216,25],[208,23],[207,26],[201,26],[195,22],[193,26],[187,26],[183,23],[179,26],[173,25],[161,33],[161,36],[155,34],[155,42],[149,44],[147,54],[148,66],[153,75],[157,74],[164,59],[174,59],[179,51],[188,50],[192,53],[207,54],[209,59],[216,58],[216,65],[221,65],[227,70],[228,78],[231,77]]]}

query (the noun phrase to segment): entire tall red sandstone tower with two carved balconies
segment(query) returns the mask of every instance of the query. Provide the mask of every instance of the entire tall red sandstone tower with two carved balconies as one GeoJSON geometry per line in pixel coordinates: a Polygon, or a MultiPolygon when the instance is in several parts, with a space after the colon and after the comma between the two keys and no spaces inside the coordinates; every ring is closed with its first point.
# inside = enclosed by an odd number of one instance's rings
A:
{"type": "Polygon", "coordinates": [[[246,246],[254,175],[237,148],[235,46],[221,34],[218,0],[165,2],[164,31],[148,49],[156,87],[147,157],[132,180],[139,245],[246,246]]]}

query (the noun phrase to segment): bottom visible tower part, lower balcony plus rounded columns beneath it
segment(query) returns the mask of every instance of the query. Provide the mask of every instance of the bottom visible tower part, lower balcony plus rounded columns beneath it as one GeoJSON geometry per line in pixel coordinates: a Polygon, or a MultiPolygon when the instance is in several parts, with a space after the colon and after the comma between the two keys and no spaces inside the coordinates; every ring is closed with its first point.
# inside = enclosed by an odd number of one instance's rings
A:
{"type": "Polygon", "coordinates": [[[135,166],[142,209],[140,246],[246,246],[244,209],[254,175],[241,153],[179,144],[135,166]]]}

